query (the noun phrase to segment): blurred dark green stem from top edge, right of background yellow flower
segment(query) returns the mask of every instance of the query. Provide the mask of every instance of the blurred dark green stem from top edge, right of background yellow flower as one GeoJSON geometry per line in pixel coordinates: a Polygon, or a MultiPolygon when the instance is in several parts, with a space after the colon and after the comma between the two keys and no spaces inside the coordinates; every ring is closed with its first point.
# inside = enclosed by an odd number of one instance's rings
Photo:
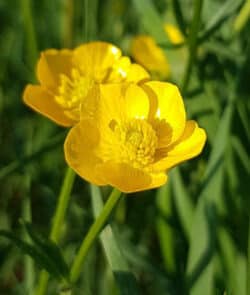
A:
{"type": "Polygon", "coordinates": [[[198,32],[200,27],[200,17],[202,10],[203,0],[195,0],[193,21],[190,28],[188,37],[189,56],[187,61],[186,70],[182,81],[182,91],[185,94],[187,91],[188,83],[191,77],[192,68],[196,60],[197,47],[198,47],[198,32]]]}

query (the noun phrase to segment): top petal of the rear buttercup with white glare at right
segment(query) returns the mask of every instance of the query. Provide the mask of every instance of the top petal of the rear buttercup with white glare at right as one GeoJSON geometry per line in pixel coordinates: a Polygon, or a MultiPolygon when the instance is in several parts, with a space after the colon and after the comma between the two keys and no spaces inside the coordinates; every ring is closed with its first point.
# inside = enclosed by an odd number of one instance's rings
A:
{"type": "Polygon", "coordinates": [[[107,70],[111,69],[120,57],[120,49],[106,42],[90,42],[74,50],[75,66],[97,82],[103,82],[107,78],[107,70]]]}

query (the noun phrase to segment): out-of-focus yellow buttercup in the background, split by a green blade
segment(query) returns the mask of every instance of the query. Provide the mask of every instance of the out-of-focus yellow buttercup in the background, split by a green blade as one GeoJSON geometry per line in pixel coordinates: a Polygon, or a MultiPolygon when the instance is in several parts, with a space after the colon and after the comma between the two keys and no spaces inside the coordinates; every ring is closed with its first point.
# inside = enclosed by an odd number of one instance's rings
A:
{"type": "MultiPolygon", "coordinates": [[[[184,42],[184,37],[174,25],[166,24],[164,30],[174,45],[184,42]]],[[[137,63],[150,71],[153,77],[163,79],[169,77],[170,67],[166,54],[151,36],[139,35],[133,38],[131,55],[137,63]]]]}

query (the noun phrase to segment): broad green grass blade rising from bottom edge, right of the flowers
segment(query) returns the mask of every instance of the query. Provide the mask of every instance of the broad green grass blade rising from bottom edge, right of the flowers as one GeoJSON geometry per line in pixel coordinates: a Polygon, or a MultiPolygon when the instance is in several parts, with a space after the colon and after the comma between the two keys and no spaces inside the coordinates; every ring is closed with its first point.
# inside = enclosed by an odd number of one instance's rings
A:
{"type": "Polygon", "coordinates": [[[224,176],[223,155],[230,134],[232,113],[233,104],[229,102],[213,143],[203,190],[194,214],[187,263],[187,281],[191,295],[212,295],[213,292],[212,257],[215,242],[213,228],[216,226],[216,212],[223,210],[220,198],[224,176]],[[204,282],[207,282],[206,287],[204,282]]]}

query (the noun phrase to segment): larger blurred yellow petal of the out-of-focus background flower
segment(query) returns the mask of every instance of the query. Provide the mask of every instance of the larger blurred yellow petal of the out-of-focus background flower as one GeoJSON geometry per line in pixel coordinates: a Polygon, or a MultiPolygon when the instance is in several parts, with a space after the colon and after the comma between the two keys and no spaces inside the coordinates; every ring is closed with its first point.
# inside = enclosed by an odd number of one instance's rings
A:
{"type": "Polygon", "coordinates": [[[134,60],[152,73],[163,78],[169,76],[169,64],[163,50],[150,36],[141,35],[132,40],[131,54],[134,60]]]}

